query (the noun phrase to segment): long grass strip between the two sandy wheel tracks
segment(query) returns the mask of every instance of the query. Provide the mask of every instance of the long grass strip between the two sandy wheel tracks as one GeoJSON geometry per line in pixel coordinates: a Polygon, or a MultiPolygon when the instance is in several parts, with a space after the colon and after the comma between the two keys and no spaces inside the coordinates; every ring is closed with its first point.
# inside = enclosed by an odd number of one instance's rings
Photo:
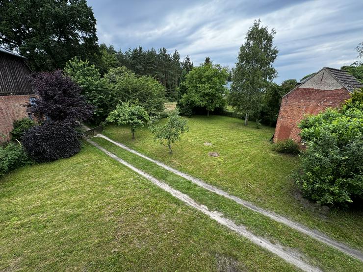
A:
{"type": "Polygon", "coordinates": [[[103,138],[92,138],[92,141],[106,148],[119,158],[126,160],[138,169],[168,183],[173,188],[190,196],[212,211],[223,213],[237,224],[243,224],[248,230],[264,237],[273,244],[279,244],[304,257],[313,266],[323,271],[362,271],[363,263],[342,252],[317,242],[309,236],[286,227],[281,223],[241,207],[233,200],[211,193],[174,173],[157,166],[129,151],[117,147],[103,138]]]}

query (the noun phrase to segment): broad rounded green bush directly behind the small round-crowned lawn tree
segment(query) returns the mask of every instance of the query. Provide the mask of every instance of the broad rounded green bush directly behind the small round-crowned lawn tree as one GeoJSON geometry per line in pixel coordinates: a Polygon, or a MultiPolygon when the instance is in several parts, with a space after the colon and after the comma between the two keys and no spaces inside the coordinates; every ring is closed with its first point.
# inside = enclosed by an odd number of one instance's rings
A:
{"type": "Polygon", "coordinates": [[[117,67],[110,69],[105,78],[112,88],[110,109],[120,101],[138,101],[149,114],[164,110],[164,87],[151,76],[137,76],[125,67],[117,67]]]}

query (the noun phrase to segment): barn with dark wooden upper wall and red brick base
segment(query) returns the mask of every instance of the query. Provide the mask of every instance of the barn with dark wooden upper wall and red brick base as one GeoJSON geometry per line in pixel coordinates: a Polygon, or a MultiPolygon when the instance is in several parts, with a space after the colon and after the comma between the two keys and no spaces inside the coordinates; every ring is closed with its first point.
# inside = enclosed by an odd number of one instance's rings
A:
{"type": "Polygon", "coordinates": [[[0,142],[9,140],[13,121],[31,118],[26,105],[36,98],[35,91],[26,78],[31,73],[25,58],[0,47],[0,142]]]}

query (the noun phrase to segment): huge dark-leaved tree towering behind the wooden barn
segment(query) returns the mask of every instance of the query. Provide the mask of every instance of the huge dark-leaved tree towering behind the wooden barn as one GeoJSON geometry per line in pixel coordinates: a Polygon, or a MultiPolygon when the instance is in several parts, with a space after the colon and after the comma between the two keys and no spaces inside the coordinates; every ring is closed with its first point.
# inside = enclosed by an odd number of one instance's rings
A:
{"type": "Polygon", "coordinates": [[[0,18],[0,45],[19,51],[34,71],[98,53],[96,19],[86,0],[3,0],[0,18]]]}

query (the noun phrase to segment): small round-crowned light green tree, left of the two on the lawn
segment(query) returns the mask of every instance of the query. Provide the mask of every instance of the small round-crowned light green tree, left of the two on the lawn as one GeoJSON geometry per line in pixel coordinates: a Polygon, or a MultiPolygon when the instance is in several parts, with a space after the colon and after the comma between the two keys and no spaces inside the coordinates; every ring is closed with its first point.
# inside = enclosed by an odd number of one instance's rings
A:
{"type": "Polygon", "coordinates": [[[130,125],[132,139],[135,139],[135,130],[144,126],[149,121],[146,110],[139,105],[130,102],[122,102],[111,111],[106,118],[107,122],[116,122],[118,125],[130,125]]]}

